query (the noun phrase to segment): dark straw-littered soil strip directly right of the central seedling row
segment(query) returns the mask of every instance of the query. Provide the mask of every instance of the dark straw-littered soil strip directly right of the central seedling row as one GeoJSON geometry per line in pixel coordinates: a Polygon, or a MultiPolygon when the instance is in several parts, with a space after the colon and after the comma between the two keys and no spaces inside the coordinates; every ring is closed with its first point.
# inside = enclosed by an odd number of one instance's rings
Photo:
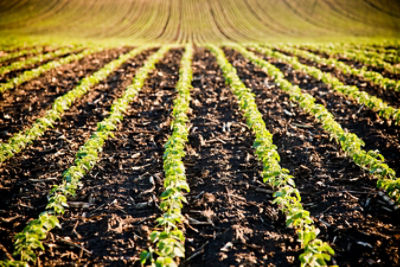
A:
{"type": "Polygon", "coordinates": [[[254,138],[222,72],[204,50],[198,50],[193,69],[185,265],[298,264],[296,237],[270,203],[254,138]]]}

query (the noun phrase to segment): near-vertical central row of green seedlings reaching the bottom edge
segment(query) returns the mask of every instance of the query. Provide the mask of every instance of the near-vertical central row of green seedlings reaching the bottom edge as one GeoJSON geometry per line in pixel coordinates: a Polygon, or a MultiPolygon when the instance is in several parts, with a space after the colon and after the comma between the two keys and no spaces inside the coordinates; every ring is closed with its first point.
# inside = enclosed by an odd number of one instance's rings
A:
{"type": "Polygon", "coordinates": [[[178,96],[174,100],[172,112],[173,132],[165,144],[163,156],[165,190],[161,194],[160,208],[164,213],[156,220],[161,230],[150,234],[150,240],[156,244],[156,247],[154,251],[150,248],[149,251],[141,253],[142,264],[149,261],[153,266],[178,266],[177,258],[185,257],[185,236],[179,229],[179,225],[184,220],[181,211],[183,203],[187,202],[184,193],[190,190],[186,182],[182,158],[185,156],[185,143],[189,134],[187,113],[192,88],[192,58],[193,47],[188,44],[181,60],[179,81],[176,85],[178,96]],[[154,252],[157,254],[156,259],[154,252]]]}

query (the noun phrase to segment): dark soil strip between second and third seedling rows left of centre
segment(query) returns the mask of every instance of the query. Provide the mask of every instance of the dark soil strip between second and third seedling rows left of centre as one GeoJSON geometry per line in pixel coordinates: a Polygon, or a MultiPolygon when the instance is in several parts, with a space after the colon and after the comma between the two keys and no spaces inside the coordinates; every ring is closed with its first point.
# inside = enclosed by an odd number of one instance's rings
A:
{"type": "Polygon", "coordinates": [[[72,90],[81,79],[127,51],[129,48],[91,54],[4,92],[0,96],[0,140],[5,141],[29,127],[44,115],[57,97],[72,90]]]}

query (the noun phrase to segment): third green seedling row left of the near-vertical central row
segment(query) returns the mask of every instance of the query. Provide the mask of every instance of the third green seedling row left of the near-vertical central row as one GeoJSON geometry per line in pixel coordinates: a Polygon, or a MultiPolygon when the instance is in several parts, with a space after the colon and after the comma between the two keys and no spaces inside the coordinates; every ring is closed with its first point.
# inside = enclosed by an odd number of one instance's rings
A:
{"type": "Polygon", "coordinates": [[[27,82],[29,80],[32,80],[34,78],[39,77],[41,74],[51,70],[58,68],[62,65],[68,64],[72,61],[80,60],[81,58],[84,58],[85,56],[89,54],[93,54],[95,52],[100,51],[100,49],[87,49],[79,54],[73,54],[68,57],[61,58],[56,61],[50,61],[44,65],[41,65],[33,70],[27,70],[24,71],[21,75],[12,78],[11,80],[5,82],[5,83],[0,83],[0,93],[4,93],[7,90],[13,89],[15,86],[20,85],[24,82],[27,82]]]}

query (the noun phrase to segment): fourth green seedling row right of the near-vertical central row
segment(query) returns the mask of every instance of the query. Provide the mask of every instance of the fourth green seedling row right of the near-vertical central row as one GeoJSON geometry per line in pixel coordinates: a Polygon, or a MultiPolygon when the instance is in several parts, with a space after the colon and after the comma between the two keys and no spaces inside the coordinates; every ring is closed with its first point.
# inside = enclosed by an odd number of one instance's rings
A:
{"type": "Polygon", "coordinates": [[[280,46],[279,49],[286,53],[292,53],[297,57],[302,57],[304,59],[311,60],[317,64],[333,66],[335,69],[339,70],[343,74],[360,77],[361,79],[379,85],[384,90],[394,90],[400,92],[400,81],[389,79],[387,77],[382,76],[382,74],[380,74],[379,72],[367,70],[365,67],[361,69],[353,68],[348,64],[339,61],[337,59],[323,58],[301,49],[289,48],[284,46],[280,46]]]}

